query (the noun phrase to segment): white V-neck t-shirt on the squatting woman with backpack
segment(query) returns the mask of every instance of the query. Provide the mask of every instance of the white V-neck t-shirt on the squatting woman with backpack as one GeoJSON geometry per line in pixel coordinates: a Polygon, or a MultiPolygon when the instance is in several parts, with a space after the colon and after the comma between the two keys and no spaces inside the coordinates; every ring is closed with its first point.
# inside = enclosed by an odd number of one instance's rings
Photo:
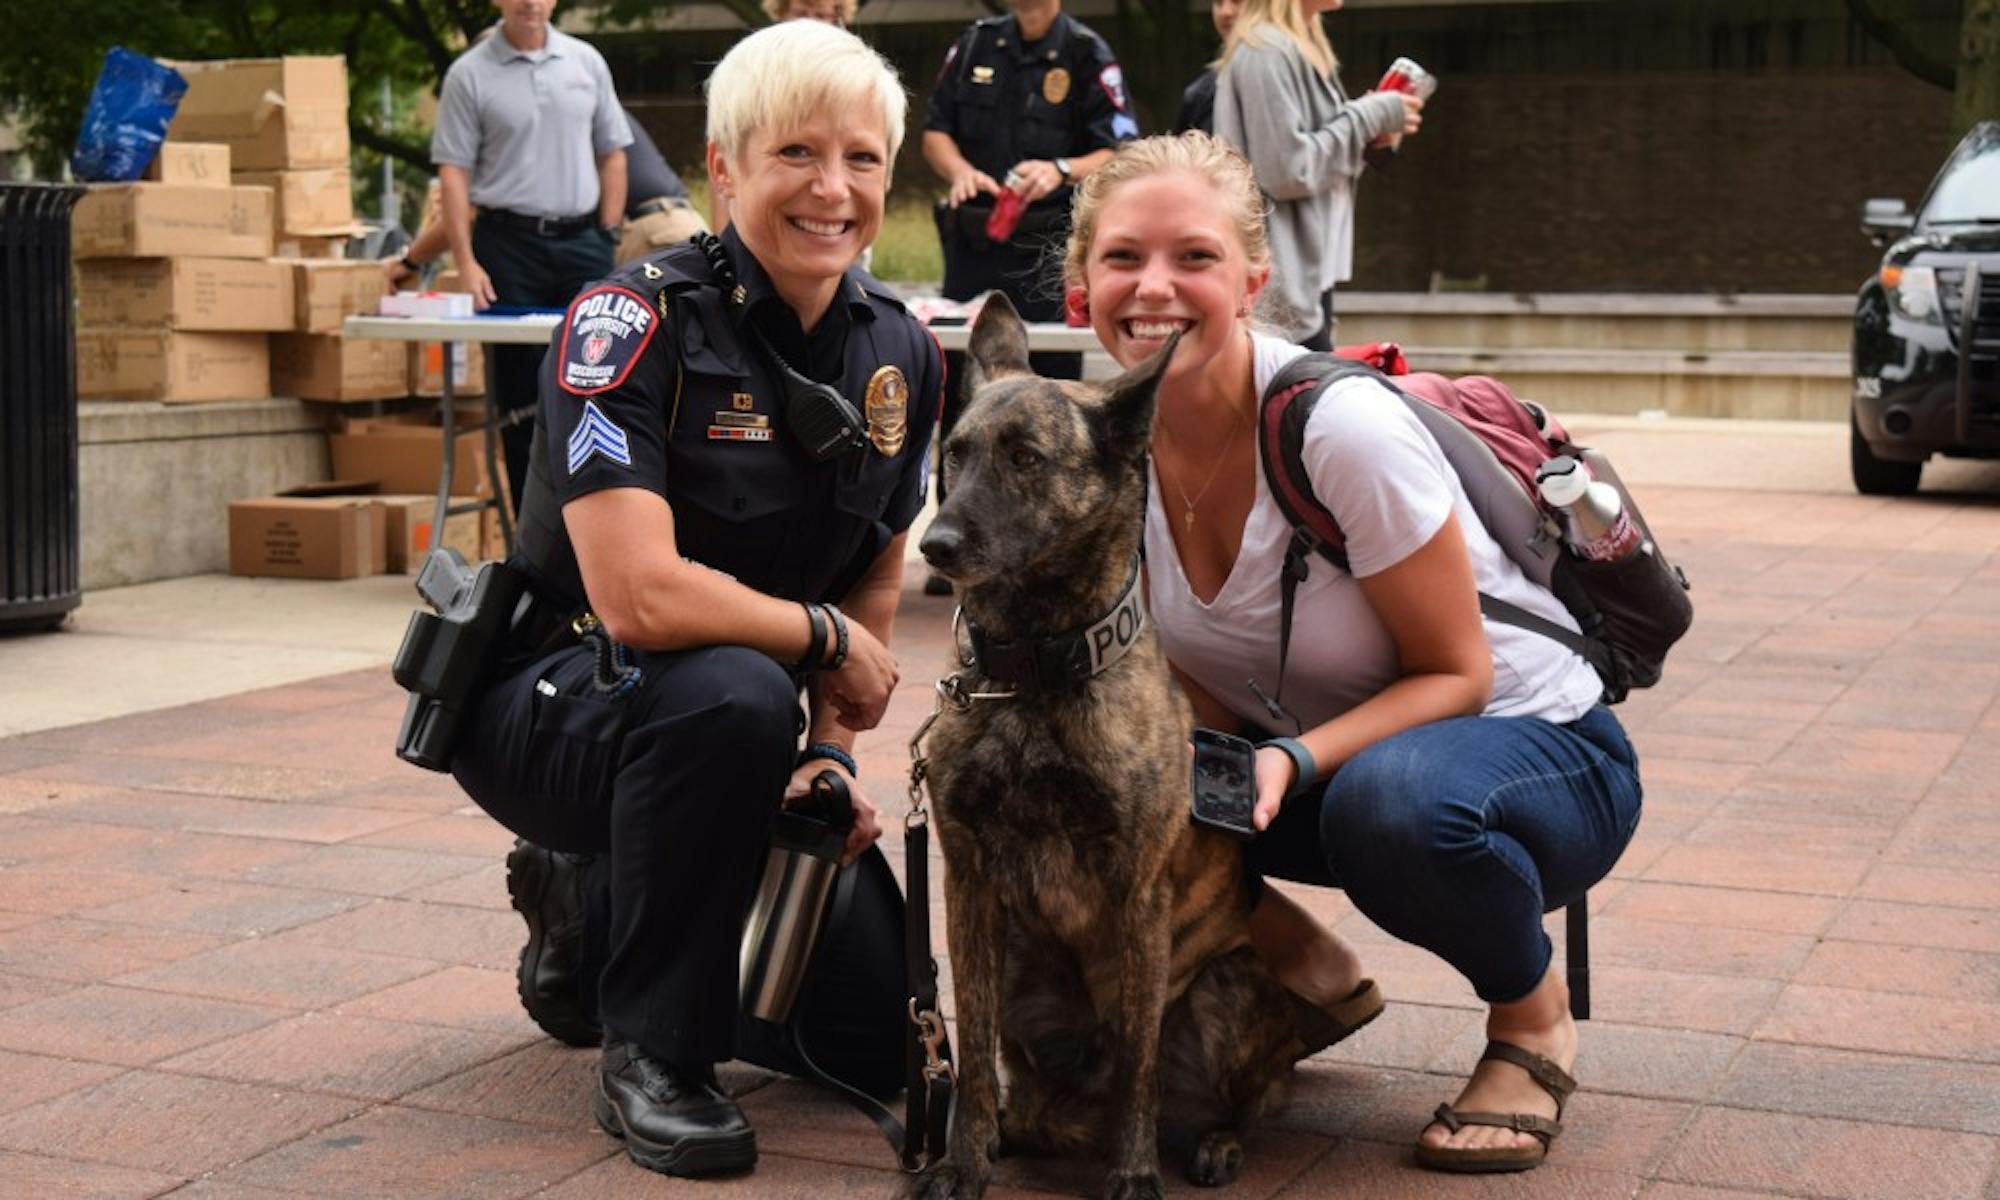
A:
{"type": "MultiPolygon", "coordinates": [[[[1278,368],[1304,350],[1258,334],[1254,354],[1262,396],[1278,368]]],[[[1486,534],[1444,452],[1388,390],[1366,378],[1334,384],[1312,410],[1302,458],[1314,494],[1348,538],[1354,566],[1348,574],[1314,556],[1310,574],[1298,584],[1284,706],[1304,728],[1340,716],[1398,678],[1396,644],[1354,576],[1378,574],[1408,558],[1444,526],[1446,512],[1458,514],[1472,578],[1482,592],[1576,628],[1562,602],[1530,582],[1486,534]]],[[[1146,496],[1146,602],[1160,644],[1210,696],[1270,728],[1272,716],[1250,680],[1266,694],[1278,690],[1278,570],[1292,528],[1258,470],[1242,550],[1222,590],[1202,604],[1188,588],[1168,520],[1156,474],[1146,496]]],[[[1488,620],[1486,642],[1494,654],[1488,716],[1566,724],[1602,694],[1596,670],[1552,638],[1488,620]]]]}

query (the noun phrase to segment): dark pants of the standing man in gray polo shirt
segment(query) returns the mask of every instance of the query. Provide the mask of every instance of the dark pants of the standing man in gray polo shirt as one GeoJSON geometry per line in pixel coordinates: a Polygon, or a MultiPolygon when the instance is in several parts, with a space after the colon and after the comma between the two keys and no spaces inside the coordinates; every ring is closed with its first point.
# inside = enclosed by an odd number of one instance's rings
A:
{"type": "MultiPolygon", "coordinates": [[[[522,226],[492,220],[472,222],[472,256],[486,268],[500,304],[566,308],[584,290],[584,284],[612,272],[614,252],[616,246],[598,228],[544,238],[522,226]]],[[[496,408],[502,414],[520,410],[534,414],[536,374],[544,352],[544,346],[494,346],[494,378],[488,386],[494,390],[496,408]]],[[[518,418],[518,424],[506,426],[500,434],[516,510],[522,490],[528,486],[532,438],[534,422],[528,416],[518,418]]]]}

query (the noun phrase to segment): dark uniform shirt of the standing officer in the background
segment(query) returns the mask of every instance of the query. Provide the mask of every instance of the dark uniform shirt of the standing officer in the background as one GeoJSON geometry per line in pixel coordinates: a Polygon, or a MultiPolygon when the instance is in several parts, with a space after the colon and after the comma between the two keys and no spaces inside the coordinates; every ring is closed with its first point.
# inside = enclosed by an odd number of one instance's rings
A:
{"type": "MultiPolygon", "coordinates": [[[[974,22],[944,54],[924,128],[950,134],[996,184],[1016,162],[1072,158],[1138,136],[1110,46],[1066,12],[1026,44],[1014,16],[974,22]]],[[[1068,196],[1056,188],[1036,206],[1066,206],[1068,196]]]]}

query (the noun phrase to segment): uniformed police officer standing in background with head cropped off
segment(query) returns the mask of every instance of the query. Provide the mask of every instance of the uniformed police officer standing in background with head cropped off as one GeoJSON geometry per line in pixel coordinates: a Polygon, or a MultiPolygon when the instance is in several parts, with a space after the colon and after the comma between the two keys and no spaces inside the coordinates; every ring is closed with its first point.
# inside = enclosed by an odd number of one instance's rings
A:
{"type": "MultiPolygon", "coordinates": [[[[1070,234],[1070,186],[1136,136],[1118,60],[1060,0],[1014,0],[1008,16],[974,22],[946,52],[924,120],[924,160],[950,184],[938,206],[944,298],[998,288],[1024,318],[1062,320],[1052,264],[1070,234]],[[1028,204],[1014,236],[992,242],[986,218],[1008,178],[1028,204]]],[[[1078,378],[1082,354],[1038,354],[1034,368],[1078,378]]]]}

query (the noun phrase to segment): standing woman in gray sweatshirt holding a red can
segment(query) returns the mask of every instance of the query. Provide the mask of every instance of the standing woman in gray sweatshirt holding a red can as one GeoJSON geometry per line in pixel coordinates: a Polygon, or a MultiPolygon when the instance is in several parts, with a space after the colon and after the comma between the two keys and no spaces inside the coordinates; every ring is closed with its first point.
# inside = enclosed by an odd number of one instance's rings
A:
{"type": "Polygon", "coordinates": [[[1320,14],[1342,0],[1246,0],[1222,46],[1216,136],[1272,198],[1272,286],[1260,316],[1312,350],[1332,348],[1334,284],[1352,274],[1362,152],[1414,134],[1424,102],[1404,92],[1348,100],[1320,14]]]}

